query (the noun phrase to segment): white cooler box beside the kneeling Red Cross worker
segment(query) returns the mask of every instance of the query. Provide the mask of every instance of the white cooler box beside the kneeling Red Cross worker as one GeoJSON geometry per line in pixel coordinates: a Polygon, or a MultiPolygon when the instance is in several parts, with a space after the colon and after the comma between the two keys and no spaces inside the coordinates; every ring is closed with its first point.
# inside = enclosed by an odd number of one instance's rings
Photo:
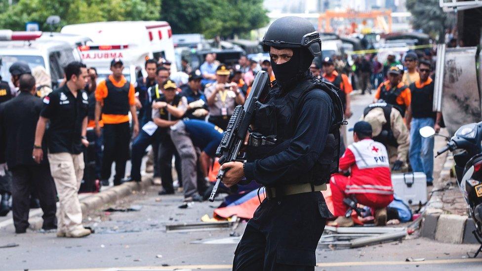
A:
{"type": "Polygon", "coordinates": [[[408,205],[427,202],[427,176],[423,172],[392,174],[393,190],[408,205]]]}

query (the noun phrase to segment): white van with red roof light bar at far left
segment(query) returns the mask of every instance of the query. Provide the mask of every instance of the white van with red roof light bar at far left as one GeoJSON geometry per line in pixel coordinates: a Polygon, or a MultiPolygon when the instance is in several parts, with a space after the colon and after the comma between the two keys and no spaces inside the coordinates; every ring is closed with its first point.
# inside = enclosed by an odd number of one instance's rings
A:
{"type": "Polygon", "coordinates": [[[64,68],[79,60],[72,46],[61,40],[40,39],[42,32],[0,30],[0,75],[9,80],[8,69],[17,61],[24,61],[30,69],[42,66],[52,78],[52,86],[64,79],[64,68]]]}

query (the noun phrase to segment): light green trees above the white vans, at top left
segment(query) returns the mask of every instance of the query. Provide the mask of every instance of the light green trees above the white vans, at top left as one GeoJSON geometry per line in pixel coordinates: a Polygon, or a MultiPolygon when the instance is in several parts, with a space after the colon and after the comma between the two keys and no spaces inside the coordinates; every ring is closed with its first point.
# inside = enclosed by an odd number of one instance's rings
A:
{"type": "Polygon", "coordinates": [[[0,0],[0,28],[23,30],[25,23],[38,22],[41,30],[49,30],[45,20],[59,15],[58,29],[67,24],[158,20],[161,0],[19,0],[9,6],[0,0]]]}

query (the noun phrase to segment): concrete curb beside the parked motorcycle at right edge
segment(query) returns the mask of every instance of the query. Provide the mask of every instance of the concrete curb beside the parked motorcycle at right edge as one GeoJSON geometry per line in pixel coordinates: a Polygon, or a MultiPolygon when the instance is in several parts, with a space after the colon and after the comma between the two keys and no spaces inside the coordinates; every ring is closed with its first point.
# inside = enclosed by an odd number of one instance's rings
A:
{"type": "MultiPolygon", "coordinates": [[[[453,156],[447,155],[440,173],[441,180],[447,180],[450,177],[450,169],[453,165],[453,156]]],[[[432,189],[432,196],[427,202],[420,235],[444,243],[478,244],[472,234],[475,230],[474,221],[467,216],[444,214],[442,193],[435,190],[436,188],[432,189]]]]}

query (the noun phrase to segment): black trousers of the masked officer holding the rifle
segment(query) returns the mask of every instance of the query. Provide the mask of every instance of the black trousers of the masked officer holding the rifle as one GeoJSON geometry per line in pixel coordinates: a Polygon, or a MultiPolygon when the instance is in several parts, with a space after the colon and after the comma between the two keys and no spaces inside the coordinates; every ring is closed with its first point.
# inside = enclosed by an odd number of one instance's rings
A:
{"type": "Polygon", "coordinates": [[[265,199],[246,225],[233,270],[315,270],[315,250],[328,217],[319,192],[265,199]]]}

